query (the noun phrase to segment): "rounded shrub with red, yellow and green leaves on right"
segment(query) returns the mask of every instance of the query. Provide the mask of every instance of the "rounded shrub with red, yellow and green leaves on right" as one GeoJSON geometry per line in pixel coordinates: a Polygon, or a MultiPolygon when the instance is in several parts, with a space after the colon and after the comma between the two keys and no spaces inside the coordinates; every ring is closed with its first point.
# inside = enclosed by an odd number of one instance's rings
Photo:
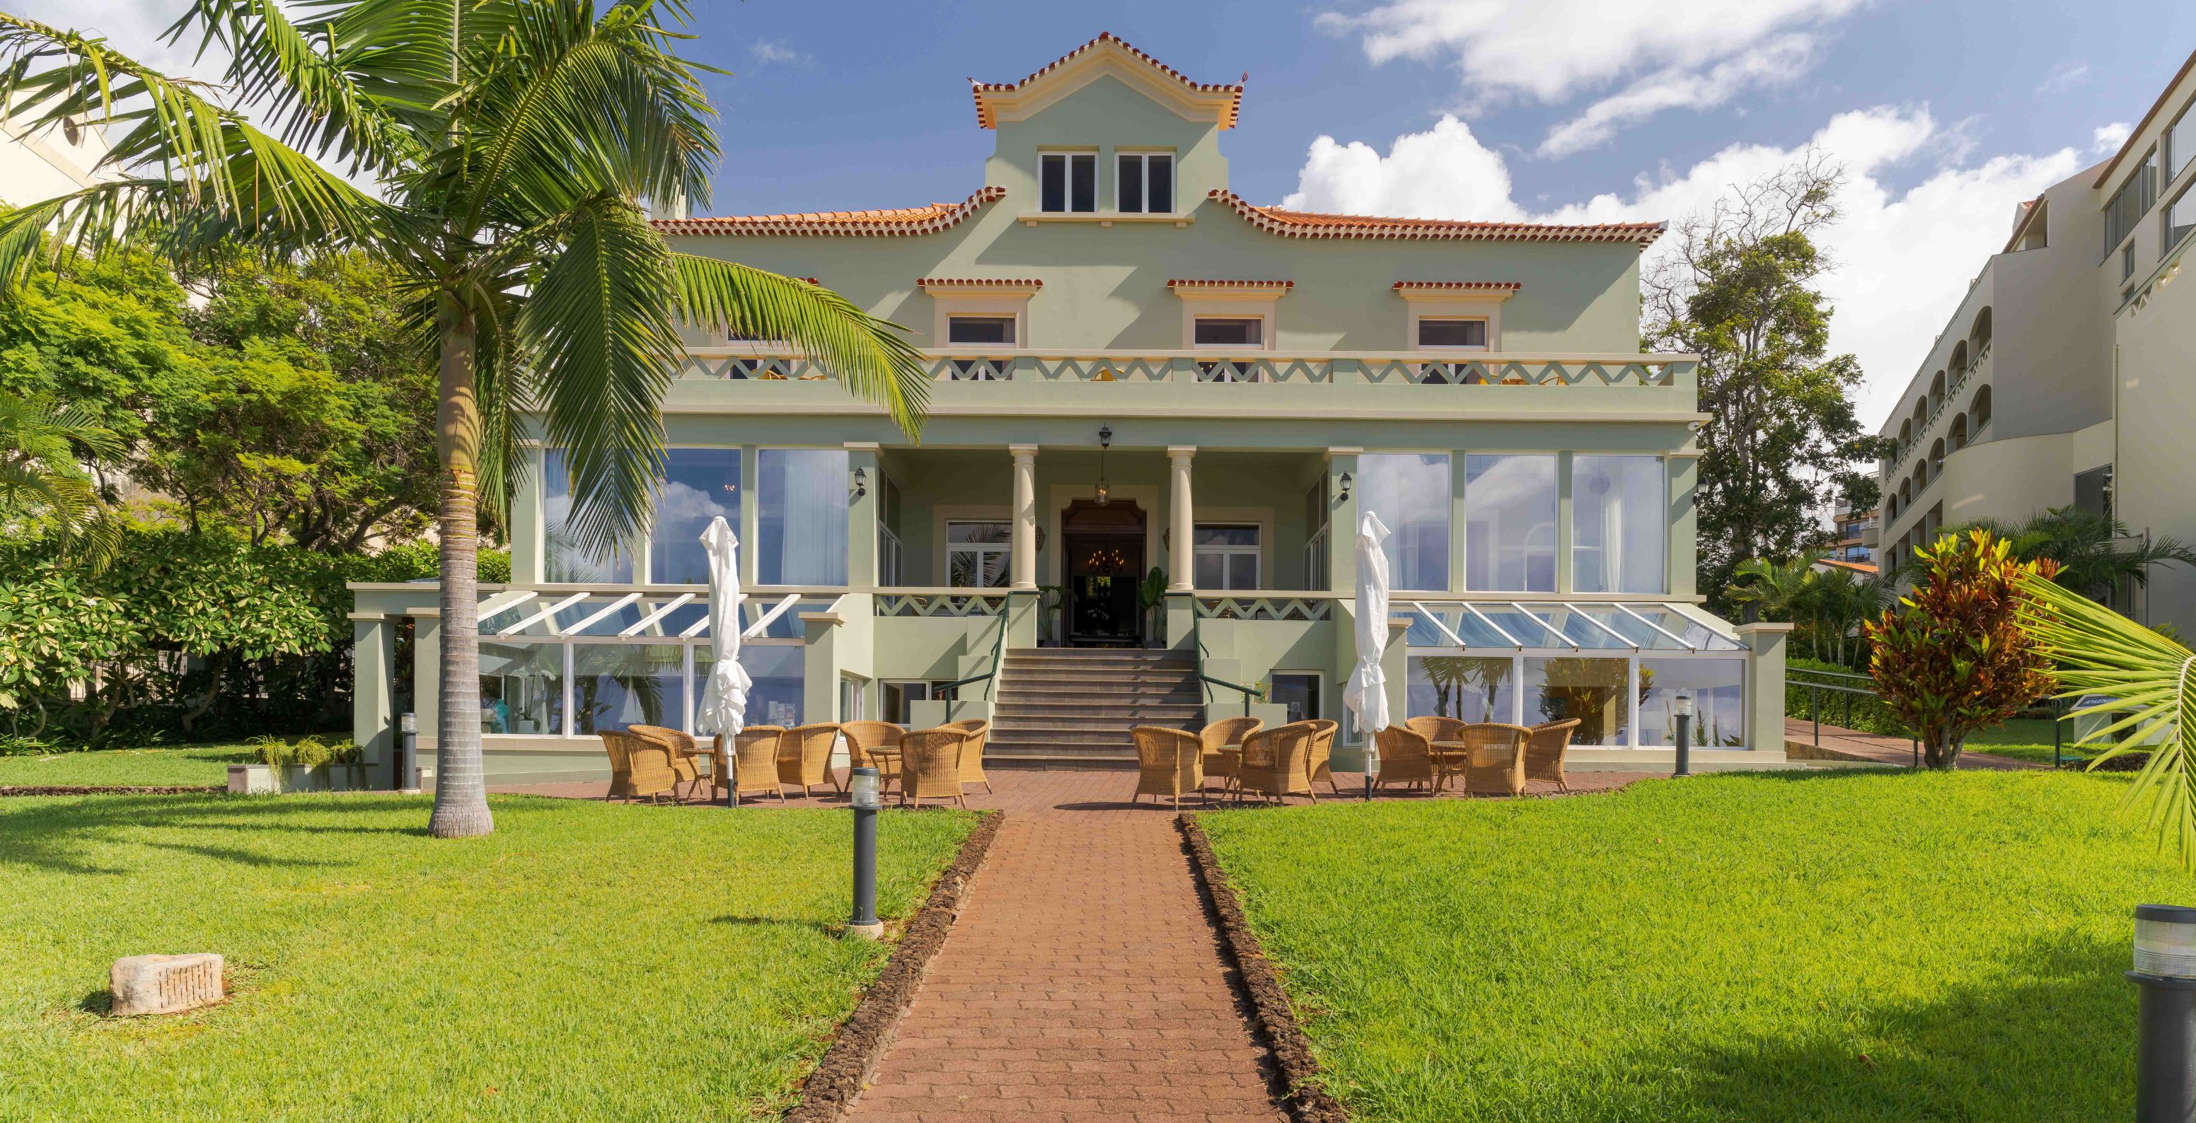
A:
{"type": "Polygon", "coordinates": [[[1922,761],[1959,768],[1968,735],[2003,724],[2055,689],[2042,647],[2023,629],[2023,579],[2051,562],[2020,562],[1987,531],[1943,535],[1922,551],[1922,579],[1867,625],[1869,676],[1884,704],[1922,739],[1922,761]]]}

